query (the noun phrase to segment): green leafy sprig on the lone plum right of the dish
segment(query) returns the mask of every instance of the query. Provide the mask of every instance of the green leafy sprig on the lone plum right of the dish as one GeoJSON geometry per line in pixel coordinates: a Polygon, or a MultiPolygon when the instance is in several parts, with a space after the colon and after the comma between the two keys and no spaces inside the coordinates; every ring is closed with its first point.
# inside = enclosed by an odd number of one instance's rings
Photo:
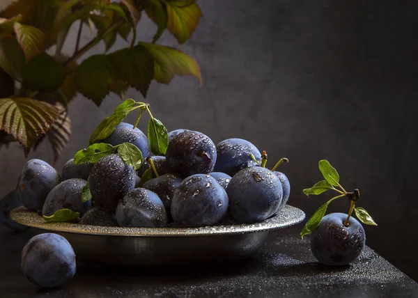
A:
{"type": "Polygon", "coordinates": [[[323,219],[325,212],[327,211],[328,205],[330,205],[330,203],[335,201],[337,198],[343,197],[347,197],[350,200],[350,210],[348,212],[348,217],[344,222],[344,226],[348,226],[348,222],[350,220],[351,214],[353,213],[353,210],[359,221],[362,221],[363,224],[377,226],[376,222],[371,218],[369,212],[364,210],[362,207],[356,207],[357,200],[360,197],[359,189],[354,189],[354,191],[351,192],[346,191],[346,189],[344,189],[339,183],[338,172],[327,160],[320,160],[318,166],[325,180],[317,182],[311,188],[304,189],[304,194],[307,196],[318,195],[323,194],[325,191],[332,190],[339,193],[339,196],[334,196],[334,198],[331,198],[330,201],[327,201],[325,204],[321,205],[318,210],[316,210],[314,215],[312,215],[312,217],[307,221],[307,224],[305,224],[304,228],[302,229],[300,237],[303,238],[304,235],[309,235],[314,230],[316,230],[320,224],[320,221],[323,219]]]}

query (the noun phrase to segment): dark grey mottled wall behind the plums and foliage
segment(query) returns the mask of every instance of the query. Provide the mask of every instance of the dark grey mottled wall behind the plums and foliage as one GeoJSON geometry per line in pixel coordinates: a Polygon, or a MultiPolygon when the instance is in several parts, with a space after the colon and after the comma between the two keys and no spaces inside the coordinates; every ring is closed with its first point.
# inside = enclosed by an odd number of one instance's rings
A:
{"type": "MultiPolygon", "coordinates": [[[[365,226],[366,243],[418,280],[418,1],[198,3],[204,17],[181,49],[201,66],[203,86],[192,77],[153,83],[146,99],[153,115],[168,130],[199,130],[215,143],[248,139],[268,152],[270,167],[288,157],[281,170],[292,185],[289,204],[307,217],[330,198],[302,194],[321,179],[318,161],[328,159],[346,189],[360,189],[358,205],[378,223],[365,226]]],[[[144,16],[138,39],[150,41],[155,30],[144,16]]],[[[90,38],[84,30],[82,43],[90,38]]],[[[168,33],[160,42],[176,45],[168,33]]],[[[121,47],[118,40],[113,49],[121,47]]],[[[126,97],[142,100],[134,90],[126,97]]],[[[72,102],[74,133],[55,165],[59,171],[120,102],[113,95],[100,108],[81,95],[72,102]]],[[[26,159],[17,146],[0,154],[4,194],[26,159]]],[[[29,158],[52,163],[52,151],[45,143],[29,158]]],[[[348,205],[342,199],[329,212],[348,212],[348,205]]]]}

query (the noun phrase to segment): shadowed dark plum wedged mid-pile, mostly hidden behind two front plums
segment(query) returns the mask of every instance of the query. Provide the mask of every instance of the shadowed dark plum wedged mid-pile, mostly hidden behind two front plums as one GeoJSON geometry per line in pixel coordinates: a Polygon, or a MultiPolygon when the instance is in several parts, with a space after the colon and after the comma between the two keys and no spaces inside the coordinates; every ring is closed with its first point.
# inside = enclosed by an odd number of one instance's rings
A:
{"type": "Polygon", "coordinates": [[[176,188],[183,180],[173,174],[165,174],[158,178],[153,178],[144,183],[143,187],[157,194],[167,211],[167,216],[171,219],[171,201],[176,188]]]}

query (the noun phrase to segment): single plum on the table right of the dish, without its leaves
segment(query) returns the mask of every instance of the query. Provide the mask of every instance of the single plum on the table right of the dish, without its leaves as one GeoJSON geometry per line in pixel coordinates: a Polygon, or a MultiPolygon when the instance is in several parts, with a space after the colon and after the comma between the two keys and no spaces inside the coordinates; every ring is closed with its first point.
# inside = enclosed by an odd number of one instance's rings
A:
{"type": "Polygon", "coordinates": [[[366,233],[357,219],[348,215],[331,213],[323,217],[311,234],[311,250],[316,260],[332,266],[343,266],[353,262],[366,244],[366,233]]]}

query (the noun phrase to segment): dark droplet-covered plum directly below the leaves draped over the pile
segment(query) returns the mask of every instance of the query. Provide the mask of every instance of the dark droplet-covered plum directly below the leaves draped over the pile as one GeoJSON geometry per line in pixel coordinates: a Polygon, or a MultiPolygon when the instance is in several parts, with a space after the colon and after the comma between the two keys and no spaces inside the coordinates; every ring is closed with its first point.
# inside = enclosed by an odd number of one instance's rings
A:
{"type": "Polygon", "coordinates": [[[111,154],[95,163],[88,184],[95,204],[114,211],[125,194],[134,189],[136,180],[134,168],[125,164],[118,155],[111,154]]]}

